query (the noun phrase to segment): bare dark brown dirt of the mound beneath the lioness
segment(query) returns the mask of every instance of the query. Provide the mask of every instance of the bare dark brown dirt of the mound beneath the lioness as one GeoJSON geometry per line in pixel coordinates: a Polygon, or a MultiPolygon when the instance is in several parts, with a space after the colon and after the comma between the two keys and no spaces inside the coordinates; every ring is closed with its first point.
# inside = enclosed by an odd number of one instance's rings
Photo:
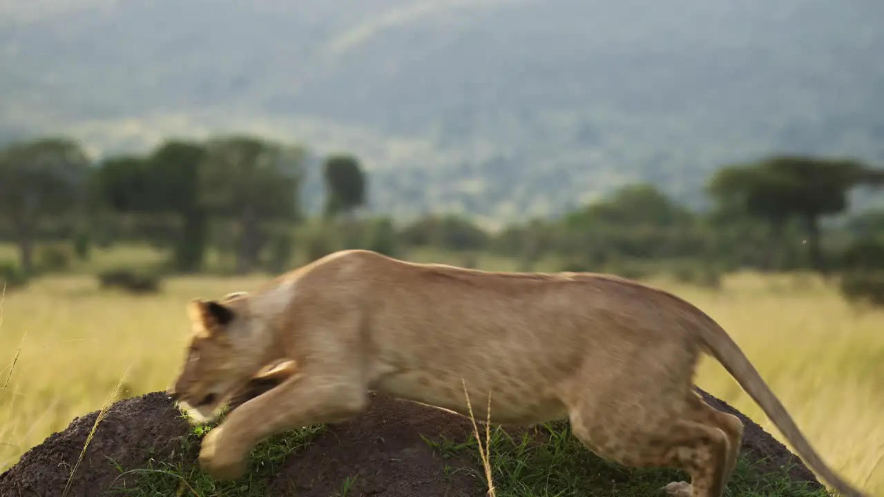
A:
{"type": "MultiPolygon", "coordinates": [[[[812,472],[758,424],[700,392],[714,407],[743,419],[743,451],[753,459],[766,459],[759,468],[762,473],[794,465],[791,478],[819,488],[812,472]]],[[[64,432],[54,433],[23,455],[0,475],[0,496],[62,495],[97,415],[74,419],[64,432]]],[[[422,434],[444,434],[466,440],[471,431],[469,419],[377,395],[365,415],[330,426],[309,447],[290,455],[269,482],[269,495],[294,492],[302,497],[327,497],[340,490],[345,478],[355,477],[355,495],[481,496],[484,482],[476,471],[446,471],[446,467],[475,469],[469,455],[442,460],[421,438],[422,434]]],[[[187,422],[162,393],[119,401],[98,425],[68,495],[109,495],[111,486],[133,486],[134,477],[120,477],[118,468],[143,468],[150,458],[171,455],[181,449],[180,440],[186,434],[187,422]]]]}

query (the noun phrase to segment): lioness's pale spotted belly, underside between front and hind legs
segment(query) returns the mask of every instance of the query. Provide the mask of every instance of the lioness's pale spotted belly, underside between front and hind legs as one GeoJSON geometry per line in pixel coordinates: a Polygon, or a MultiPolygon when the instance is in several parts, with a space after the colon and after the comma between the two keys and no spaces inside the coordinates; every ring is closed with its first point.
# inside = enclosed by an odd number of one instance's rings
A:
{"type": "Polygon", "coordinates": [[[535,424],[567,416],[565,406],[545,387],[531,386],[529,382],[509,381],[475,370],[455,375],[448,371],[405,370],[392,371],[382,366],[382,372],[370,388],[376,392],[409,401],[418,401],[463,416],[469,416],[467,394],[473,415],[478,421],[487,417],[488,395],[491,393],[491,418],[494,423],[535,424]],[[461,378],[461,376],[463,378],[461,378]]]}

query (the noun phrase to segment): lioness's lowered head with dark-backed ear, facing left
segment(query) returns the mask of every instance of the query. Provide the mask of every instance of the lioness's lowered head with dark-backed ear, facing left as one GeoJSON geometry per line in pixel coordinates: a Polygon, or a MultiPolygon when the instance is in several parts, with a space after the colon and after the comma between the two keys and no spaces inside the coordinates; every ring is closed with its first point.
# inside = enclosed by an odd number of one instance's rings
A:
{"type": "Polygon", "coordinates": [[[196,421],[216,417],[266,362],[263,319],[249,311],[248,295],[187,304],[193,336],[174,386],[166,393],[196,421]]]}

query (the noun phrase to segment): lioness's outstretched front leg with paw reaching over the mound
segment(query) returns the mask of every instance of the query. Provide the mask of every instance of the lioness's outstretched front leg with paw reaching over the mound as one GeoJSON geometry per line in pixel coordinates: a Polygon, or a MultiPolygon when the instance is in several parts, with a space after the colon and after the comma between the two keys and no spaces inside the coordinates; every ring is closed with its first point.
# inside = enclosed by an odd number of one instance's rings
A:
{"type": "Polygon", "coordinates": [[[248,469],[248,453],[261,440],[294,428],[344,421],[368,405],[368,390],[358,378],[297,373],[233,409],[224,423],[207,433],[200,465],[212,478],[240,478],[248,469]]]}

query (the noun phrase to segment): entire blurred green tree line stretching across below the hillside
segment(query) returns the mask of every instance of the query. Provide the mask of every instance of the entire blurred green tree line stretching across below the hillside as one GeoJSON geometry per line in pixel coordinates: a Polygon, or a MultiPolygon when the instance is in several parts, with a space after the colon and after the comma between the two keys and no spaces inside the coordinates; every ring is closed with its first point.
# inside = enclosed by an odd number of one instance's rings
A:
{"type": "Polygon", "coordinates": [[[210,248],[230,255],[241,273],[284,270],[297,248],[310,258],[338,248],[395,255],[436,247],[514,256],[526,269],[555,257],[570,270],[690,261],[721,271],[827,273],[842,265],[846,241],[884,233],[881,213],[851,219],[831,235],[821,225],[847,209],[856,187],[884,184],[884,170],[845,158],[781,155],[728,164],[707,181],[713,207],[703,212],[636,184],[560,218],[495,233],[453,215],[401,224],[361,213],[370,178],[350,154],[324,158],[324,211],[309,219],[300,195],[307,158],[300,145],[248,134],[171,138],[145,154],[99,160],[67,137],[11,143],[0,149],[0,237],[15,243],[28,273],[39,265],[34,248],[43,241],[72,241],[78,253],[144,241],[168,248],[166,270],[180,272],[202,271],[210,248]]]}

